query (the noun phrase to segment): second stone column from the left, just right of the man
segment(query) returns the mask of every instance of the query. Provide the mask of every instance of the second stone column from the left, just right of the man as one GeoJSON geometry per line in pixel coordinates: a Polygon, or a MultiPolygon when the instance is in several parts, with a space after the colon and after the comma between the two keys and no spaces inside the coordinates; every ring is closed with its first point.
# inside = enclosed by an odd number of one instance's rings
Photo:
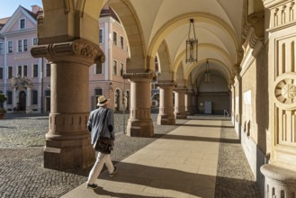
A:
{"type": "Polygon", "coordinates": [[[124,74],[130,80],[130,119],[127,135],[130,137],[151,137],[154,134],[151,119],[151,81],[153,73],[124,74]]]}

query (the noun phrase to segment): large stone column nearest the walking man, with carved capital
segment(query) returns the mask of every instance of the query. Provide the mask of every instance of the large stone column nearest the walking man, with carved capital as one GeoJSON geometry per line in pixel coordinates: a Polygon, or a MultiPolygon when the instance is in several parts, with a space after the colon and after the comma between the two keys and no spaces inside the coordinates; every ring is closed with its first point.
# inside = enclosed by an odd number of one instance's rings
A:
{"type": "Polygon", "coordinates": [[[84,168],[94,163],[94,149],[87,130],[89,116],[89,66],[103,60],[99,46],[86,40],[40,45],[31,49],[35,58],[50,62],[49,132],[44,167],[84,168]]]}

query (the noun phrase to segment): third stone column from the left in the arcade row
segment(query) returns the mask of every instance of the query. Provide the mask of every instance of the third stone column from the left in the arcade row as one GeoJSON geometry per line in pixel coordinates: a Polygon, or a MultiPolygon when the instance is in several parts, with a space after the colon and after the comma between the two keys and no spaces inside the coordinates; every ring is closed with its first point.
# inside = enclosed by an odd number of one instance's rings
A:
{"type": "Polygon", "coordinates": [[[157,83],[159,86],[159,112],[157,116],[158,125],[174,125],[175,114],[173,104],[173,89],[175,84],[157,83]]]}

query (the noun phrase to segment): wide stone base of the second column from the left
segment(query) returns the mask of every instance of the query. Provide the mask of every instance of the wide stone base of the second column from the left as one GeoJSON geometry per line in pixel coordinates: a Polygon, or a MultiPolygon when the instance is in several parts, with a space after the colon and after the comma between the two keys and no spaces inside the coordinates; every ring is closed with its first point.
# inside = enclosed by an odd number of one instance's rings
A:
{"type": "Polygon", "coordinates": [[[128,121],[127,135],[130,137],[150,138],[154,135],[153,122],[151,121],[128,121]]]}

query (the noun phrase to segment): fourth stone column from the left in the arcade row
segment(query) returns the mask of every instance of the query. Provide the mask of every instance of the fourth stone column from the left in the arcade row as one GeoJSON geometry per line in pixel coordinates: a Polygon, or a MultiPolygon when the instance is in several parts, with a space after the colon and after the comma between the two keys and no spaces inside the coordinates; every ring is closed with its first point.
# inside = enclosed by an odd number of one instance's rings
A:
{"type": "Polygon", "coordinates": [[[187,119],[187,113],[185,112],[185,92],[187,88],[177,87],[175,92],[175,119],[187,119]]]}

